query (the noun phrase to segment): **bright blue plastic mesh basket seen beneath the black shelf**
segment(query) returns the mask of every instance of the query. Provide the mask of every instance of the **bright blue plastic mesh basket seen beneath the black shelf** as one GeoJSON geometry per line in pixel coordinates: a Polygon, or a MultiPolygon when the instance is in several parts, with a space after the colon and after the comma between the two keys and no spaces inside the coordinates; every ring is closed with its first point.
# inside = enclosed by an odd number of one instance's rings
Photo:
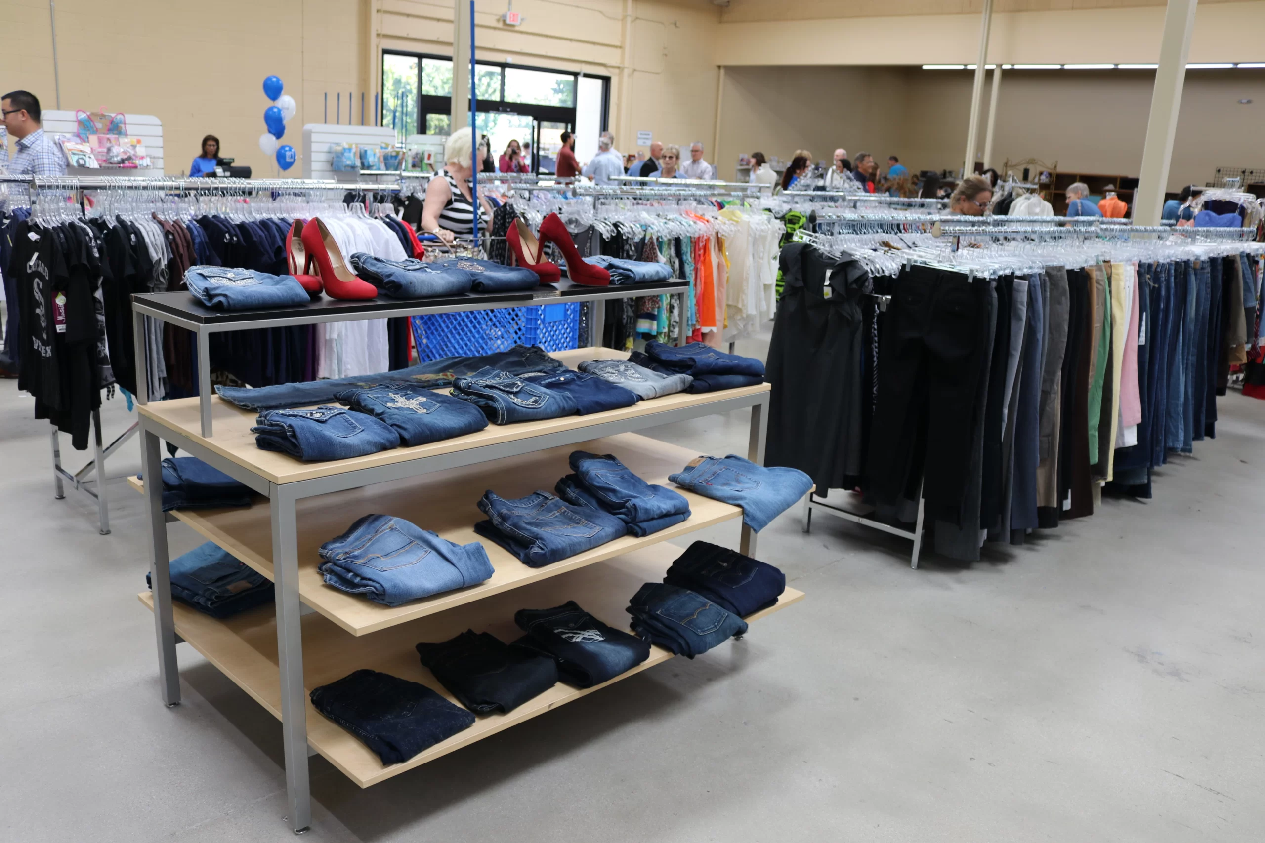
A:
{"type": "Polygon", "coordinates": [[[581,302],[501,307],[411,317],[419,360],[474,356],[539,345],[565,351],[579,345],[581,302]]]}

